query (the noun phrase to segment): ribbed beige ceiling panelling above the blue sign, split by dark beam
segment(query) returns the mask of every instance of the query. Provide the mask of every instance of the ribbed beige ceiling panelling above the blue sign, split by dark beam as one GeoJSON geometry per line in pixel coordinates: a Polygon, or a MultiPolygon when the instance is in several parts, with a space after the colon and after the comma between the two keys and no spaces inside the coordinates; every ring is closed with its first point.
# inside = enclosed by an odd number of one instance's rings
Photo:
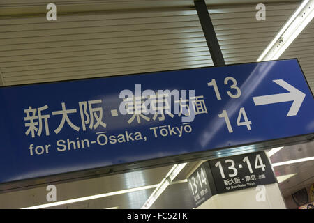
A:
{"type": "MultiPolygon", "coordinates": [[[[296,3],[209,10],[226,63],[255,61],[296,3]]],[[[0,20],[6,85],[212,66],[194,9],[80,13],[0,20]]]]}

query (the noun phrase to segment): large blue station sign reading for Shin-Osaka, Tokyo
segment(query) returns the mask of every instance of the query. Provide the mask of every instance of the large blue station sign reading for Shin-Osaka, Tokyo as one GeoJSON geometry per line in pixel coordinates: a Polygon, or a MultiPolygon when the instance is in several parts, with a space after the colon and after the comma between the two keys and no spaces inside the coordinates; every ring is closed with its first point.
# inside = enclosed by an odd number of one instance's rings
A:
{"type": "Polygon", "coordinates": [[[296,59],[6,86],[0,102],[0,183],[314,132],[296,59]]]}

